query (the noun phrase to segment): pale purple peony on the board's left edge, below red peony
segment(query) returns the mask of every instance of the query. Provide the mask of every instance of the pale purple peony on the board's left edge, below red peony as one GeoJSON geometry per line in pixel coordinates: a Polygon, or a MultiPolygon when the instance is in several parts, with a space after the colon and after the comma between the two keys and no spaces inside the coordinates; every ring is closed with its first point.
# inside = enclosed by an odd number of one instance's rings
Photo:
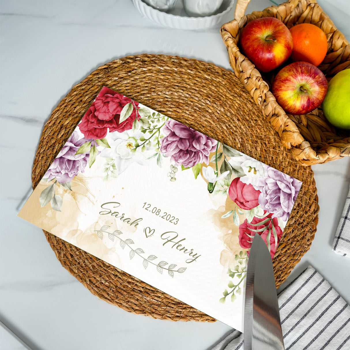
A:
{"type": "Polygon", "coordinates": [[[72,181],[80,172],[84,173],[89,153],[75,154],[82,144],[91,140],[78,139],[79,134],[74,131],[45,173],[44,179],[48,179],[47,181],[56,179],[60,183],[65,183],[72,181]]]}

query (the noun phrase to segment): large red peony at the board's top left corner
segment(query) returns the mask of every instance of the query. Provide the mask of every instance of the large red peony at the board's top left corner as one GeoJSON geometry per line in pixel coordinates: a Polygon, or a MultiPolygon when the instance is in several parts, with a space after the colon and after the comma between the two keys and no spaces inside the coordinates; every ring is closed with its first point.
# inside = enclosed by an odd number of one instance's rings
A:
{"type": "MultiPolygon", "coordinates": [[[[133,109],[131,115],[119,124],[120,112],[131,99],[107,87],[103,87],[79,123],[79,129],[87,139],[103,139],[110,132],[130,130],[137,118],[133,109]]],[[[139,103],[134,101],[135,106],[139,103]]]]}

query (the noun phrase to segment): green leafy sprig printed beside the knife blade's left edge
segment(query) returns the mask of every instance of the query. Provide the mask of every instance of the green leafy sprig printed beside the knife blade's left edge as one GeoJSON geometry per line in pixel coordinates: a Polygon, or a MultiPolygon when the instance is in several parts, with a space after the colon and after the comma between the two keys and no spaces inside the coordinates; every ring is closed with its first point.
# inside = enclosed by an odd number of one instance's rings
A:
{"type": "Polygon", "coordinates": [[[235,301],[237,298],[237,295],[240,295],[242,293],[242,287],[241,283],[245,281],[246,275],[247,275],[247,253],[243,253],[243,251],[239,252],[239,255],[236,254],[235,260],[237,261],[237,265],[233,269],[233,271],[229,268],[227,273],[232,278],[231,281],[228,283],[228,287],[230,292],[225,289],[222,293],[224,296],[219,300],[221,303],[225,303],[226,297],[231,294],[231,301],[235,301]]]}

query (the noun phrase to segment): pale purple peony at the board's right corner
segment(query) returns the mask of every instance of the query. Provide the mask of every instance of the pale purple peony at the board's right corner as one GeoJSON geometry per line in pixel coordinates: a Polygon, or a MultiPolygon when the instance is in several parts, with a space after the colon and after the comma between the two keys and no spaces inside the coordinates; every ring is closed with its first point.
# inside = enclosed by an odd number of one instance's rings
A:
{"type": "Polygon", "coordinates": [[[273,217],[287,221],[292,211],[301,182],[278,170],[268,167],[267,177],[261,179],[258,203],[273,217]]]}

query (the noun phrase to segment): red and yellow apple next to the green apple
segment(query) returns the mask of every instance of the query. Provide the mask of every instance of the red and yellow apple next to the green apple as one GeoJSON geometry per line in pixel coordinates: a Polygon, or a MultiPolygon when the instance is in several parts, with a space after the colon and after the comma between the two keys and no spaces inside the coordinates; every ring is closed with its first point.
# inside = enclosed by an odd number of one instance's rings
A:
{"type": "Polygon", "coordinates": [[[278,104],[289,114],[300,116],[317,108],[326,96],[327,79],[314,65],[294,62],[282,68],[272,83],[278,104]]]}

